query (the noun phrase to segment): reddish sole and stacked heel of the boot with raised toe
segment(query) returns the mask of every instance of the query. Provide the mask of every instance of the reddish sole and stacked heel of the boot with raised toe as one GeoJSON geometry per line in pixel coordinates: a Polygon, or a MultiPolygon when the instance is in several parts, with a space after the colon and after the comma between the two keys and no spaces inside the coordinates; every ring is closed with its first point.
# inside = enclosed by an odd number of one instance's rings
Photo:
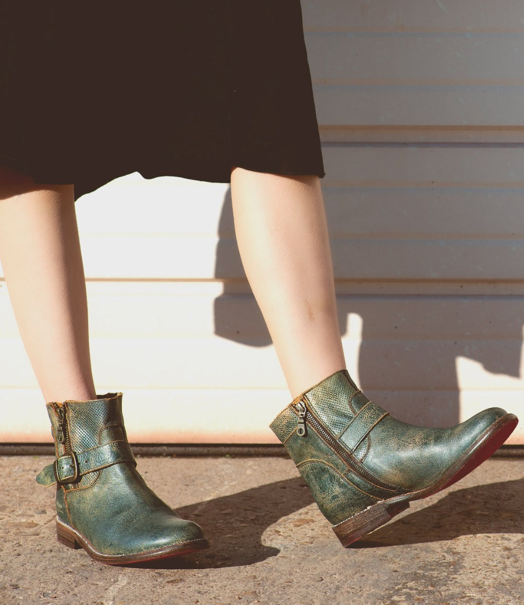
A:
{"type": "Polygon", "coordinates": [[[471,473],[473,469],[477,468],[499,449],[502,443],[513,433],[518,422],[519,420],[514,414],[506,414],[499,418],[433,485],[377,502],[364,511],[358,512],[356,515],[334,525],[333,531],[341,545],[347,548],[364,535],[390,521],[395,515],[405,511],[406,508],[409,508],[409,503],[412,500],[421,500],[436,494],[471,473]]]}

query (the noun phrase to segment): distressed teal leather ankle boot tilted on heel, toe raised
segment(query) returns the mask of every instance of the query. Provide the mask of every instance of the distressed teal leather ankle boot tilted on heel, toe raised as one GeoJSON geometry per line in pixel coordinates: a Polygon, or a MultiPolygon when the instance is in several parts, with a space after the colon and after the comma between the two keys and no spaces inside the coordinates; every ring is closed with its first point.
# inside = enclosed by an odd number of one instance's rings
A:
{"type": "Polygon", "coordinates": [[[458,481],[508,438],[517,417],[484,410],[451,428],[396,420],[346,370],[285,408],[271,429],[311,489],[343,546],[458,481]]]}

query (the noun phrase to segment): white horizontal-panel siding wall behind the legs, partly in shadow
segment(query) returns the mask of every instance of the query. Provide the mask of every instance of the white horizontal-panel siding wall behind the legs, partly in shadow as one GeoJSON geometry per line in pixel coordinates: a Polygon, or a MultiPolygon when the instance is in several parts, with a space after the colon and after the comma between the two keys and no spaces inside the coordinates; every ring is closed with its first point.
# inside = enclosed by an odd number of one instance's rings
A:
{"type": "MultiPolygon", "coordinates": [[[[524,5],[302,5],[350,371],[412,422],[524,416],[524,5]]],[[[77,202],[95,380],[135,442],[274,440],[289,397],[228,200],[130,175],[77,202]]],[[[0,440],[47,441],[1,282],[0,318],[0,440]]]]}

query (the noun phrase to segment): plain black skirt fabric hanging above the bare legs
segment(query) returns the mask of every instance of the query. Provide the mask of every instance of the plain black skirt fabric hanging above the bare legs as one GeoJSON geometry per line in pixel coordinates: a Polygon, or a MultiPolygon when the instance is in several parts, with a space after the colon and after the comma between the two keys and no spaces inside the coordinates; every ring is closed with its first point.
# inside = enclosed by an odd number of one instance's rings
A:
{"type": "Polygon", "coordinates": [[[299,0],[0,0],[0,53],[0,164],[35,182],[324,174],[299,0]]]}

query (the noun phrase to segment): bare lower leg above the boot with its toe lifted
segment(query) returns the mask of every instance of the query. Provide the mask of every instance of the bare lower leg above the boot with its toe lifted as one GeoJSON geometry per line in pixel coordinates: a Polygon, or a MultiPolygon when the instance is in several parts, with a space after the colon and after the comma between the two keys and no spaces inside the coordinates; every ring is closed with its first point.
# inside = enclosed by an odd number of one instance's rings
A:
{"type": "Polygon", "coordinates": [[[320,180],[235,168],[231,197],[242,263],[296,397],[346,367],[320,180]]]}

